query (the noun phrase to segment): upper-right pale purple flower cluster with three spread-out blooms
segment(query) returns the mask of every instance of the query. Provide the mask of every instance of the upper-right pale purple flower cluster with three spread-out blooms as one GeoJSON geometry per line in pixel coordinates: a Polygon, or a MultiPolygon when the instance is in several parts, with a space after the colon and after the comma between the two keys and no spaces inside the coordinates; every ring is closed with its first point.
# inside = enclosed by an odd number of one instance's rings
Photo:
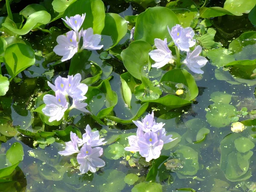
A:
{"type": "Polygon", "coordinates": [[[173,63],[175,61],[180,60],[180,51],[187,52],[186,58],[181,64],[185,64],[192,72],[203,74],[204,71],[201,70],[201,67],[204,67],[207,64],[207,59],[199,56],[202,52],[201,46],[196,46],[195,49],[190,52],[190,47],[195,46],[195,39],[193,39],[195,33],[191,27],[186,27],[185,29],[176,25],[172,27],[172,30],[167,27],[169,34],[172,37],[172,40],[176,46],[176,55],[175,58],[172,55],[172,51],[169,49],[167,45],[167,38],[163,40],[155,38],[154,44],[157,49],[149,52],[150,57],[155,61],[155,64],[152,67],[163,67],[168,63],[173,63]]]}

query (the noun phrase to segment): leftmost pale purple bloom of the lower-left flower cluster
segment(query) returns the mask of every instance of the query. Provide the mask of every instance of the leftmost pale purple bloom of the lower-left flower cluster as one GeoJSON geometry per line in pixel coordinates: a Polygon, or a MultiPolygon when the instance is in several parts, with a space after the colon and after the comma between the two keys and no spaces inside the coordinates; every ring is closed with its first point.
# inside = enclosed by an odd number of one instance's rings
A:
{"type": "Polygon", "coordinates": [[[78,143],[81,142],[81,139],[79,139],[79,137],[77,137],[77,135],[72,131],[70,131],[70,139],[71,141],[65,142],[65,145],[66,145],[65,150],[59,151],[58,154],[69,156],[74,153],[80,152],[78,149],[78,143]]]}

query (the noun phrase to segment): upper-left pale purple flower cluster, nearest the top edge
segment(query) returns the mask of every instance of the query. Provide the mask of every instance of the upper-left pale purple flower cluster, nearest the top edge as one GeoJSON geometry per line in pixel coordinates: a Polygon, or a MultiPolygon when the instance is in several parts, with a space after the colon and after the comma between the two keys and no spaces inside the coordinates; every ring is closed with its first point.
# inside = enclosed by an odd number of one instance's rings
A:
{"type": "Polygon", "coordinates": [[[93,34],[93,29],[90,27],[86,30],[83,28],[79,31],[84,23],[85,14],[75,15],[73,17],[66,17],[64,20],[68,26],[73,30],[66,33],[66,35],[59,35],[57,37],[57,43],[53,51],[57,55],[63,56],[61,61],[67,61],[75,55],[76,52],[80,52],[83,49],[97,50],[101,49],[103,45],[99,45],[101,41],[101,35],[93,34]],[[79,48],[79,41],[82,37],[83,45],[79,48]]]}

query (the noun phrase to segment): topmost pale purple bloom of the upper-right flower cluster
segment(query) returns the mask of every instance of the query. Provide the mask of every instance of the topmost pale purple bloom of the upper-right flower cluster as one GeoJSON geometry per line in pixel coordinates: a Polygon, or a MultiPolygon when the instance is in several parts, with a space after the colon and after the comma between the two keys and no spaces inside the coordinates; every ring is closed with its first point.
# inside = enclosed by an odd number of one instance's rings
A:
{"type": "Polygon", "coordinates": [[[176,25],[172,27],[172,31],[168,28],[168,31],[174,41],[175,45],[181,51],[189,51],[189,47],[193,47],[195,45],[195,39],[193,39],[195,32],[191,27],[186,27],[185,29],[180,26],[176,25]]]}

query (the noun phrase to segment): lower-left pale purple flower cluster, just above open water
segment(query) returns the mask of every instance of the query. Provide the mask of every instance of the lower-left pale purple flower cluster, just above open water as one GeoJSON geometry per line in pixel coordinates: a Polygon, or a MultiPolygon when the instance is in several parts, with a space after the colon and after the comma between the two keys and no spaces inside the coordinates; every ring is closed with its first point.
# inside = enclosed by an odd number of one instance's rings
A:
{"type": "Polygon", "coordinates": [[[77,154],[76,159],[80,165],[81,174],[87,173],[89,170],[94,173],[97,167],[105,166],[105,162],[99,158],[103,154],[103,148],[96,146],[104,145],[107,142],[102,142],[104,139],[99,139],[99,131],[92,132],[89,125],[86,126],[85,131],[82,139],[70,131],[71,141],[65,142],[65,150],[58,152],[64,156],[77,154]]]}

